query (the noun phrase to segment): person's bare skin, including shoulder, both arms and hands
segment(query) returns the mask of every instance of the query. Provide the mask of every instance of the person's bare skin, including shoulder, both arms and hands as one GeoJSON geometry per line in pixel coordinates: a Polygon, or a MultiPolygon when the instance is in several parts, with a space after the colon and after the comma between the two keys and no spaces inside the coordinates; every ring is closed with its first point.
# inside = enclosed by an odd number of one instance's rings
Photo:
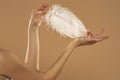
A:
{"type": "Polygon", "coordinates": [[[39,35],[45,12],[33,10],[28,25],[28,45],[25,61],[20,61],[12,52],[0,49],[0,74],[10,76],[14,80],[56,80],[66,63],[72,57],[72,52],[80,47],[93,45],[108,38],[108,36],[91,35],[76,38],[63,51],[58,60],[46,72],[39,69],[39,35]]]}

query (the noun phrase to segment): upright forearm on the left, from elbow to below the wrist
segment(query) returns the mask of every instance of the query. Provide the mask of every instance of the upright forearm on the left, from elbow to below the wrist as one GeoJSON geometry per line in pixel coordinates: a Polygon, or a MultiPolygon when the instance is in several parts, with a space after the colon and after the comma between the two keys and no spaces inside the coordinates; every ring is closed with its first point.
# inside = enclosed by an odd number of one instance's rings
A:
{"type": "Polygon", "coordinates": [[[38,28],[35,25],[30,25],[28,28],[25,63],[39,70],[39,36],[38,28]]]}

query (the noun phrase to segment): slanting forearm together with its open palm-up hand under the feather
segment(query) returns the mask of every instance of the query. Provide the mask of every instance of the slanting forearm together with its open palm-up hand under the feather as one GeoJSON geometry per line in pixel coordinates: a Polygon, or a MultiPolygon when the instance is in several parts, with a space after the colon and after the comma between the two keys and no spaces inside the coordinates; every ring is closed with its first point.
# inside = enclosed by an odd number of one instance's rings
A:
{"type": "Polygon", "coordinates": [[[55,62],[55,64],[46,72],[46,78],[49,80],[55,80],[58,77],[58,75],[63,70],[66,62],[68,62],[70,57],[72,56],[72,52],[75,48],[83,45],[91,45],[107,38],[108,38],[107,36],[101,36],[101,37],[78,38],[73,40],[65,49],[63,54],[59,57],[59,59],[55,62]]]}

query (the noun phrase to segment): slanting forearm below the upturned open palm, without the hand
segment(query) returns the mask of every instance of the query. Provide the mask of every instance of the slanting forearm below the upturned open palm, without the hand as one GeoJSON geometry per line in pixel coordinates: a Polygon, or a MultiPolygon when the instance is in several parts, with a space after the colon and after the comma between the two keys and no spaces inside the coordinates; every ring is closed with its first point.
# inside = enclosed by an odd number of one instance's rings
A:
{"type": "Polygon", "coordinates": [[[76,48],[76,42],[72,41],[55,64],[46,72],[47,78],[56,79],[57,76],[63,70],[65,64],[69,61],[72,56],[73,50],[76,48]]]}

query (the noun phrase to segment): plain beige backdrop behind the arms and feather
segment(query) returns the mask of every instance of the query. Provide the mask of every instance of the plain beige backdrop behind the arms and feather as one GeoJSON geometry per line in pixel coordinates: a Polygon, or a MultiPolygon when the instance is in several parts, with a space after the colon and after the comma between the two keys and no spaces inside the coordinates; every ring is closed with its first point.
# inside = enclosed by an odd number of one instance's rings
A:
{"type": "MultiPolygon", "coordinates": [[[[31,11],[41,2],[59,3],[71,9],[93,33],[105,28],[110,38],[79,47],[58,80],[120,80],[120,0],[0,0],[0,48],[24,60],[31,11]]],[[[40,34],[40,68],[46,71],[72,39],[47,30],[40,34]]]]}

